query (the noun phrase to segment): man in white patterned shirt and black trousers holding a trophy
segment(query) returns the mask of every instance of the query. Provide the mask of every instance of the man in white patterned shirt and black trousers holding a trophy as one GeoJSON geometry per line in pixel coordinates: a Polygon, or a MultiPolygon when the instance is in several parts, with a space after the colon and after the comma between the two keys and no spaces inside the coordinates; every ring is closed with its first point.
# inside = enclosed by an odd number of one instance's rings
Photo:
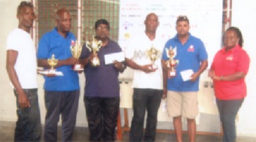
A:
{"type": "Polygon", "coordinates": [[[146,30],[130,40],[126,63],[134,69],[133,111],[130,141],[155,141],[158,108],[163,94],[161,55],[164,41],[156,35],[158,16],[147,15],[146,30]],[[143,138],[144,116],[148,112],[143,138]]]}

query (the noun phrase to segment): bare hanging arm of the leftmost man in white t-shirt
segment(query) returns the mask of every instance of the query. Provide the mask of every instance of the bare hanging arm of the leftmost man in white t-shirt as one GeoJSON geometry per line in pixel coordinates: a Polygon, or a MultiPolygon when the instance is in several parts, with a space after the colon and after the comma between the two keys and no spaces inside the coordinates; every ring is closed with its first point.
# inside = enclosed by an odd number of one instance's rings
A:
{"type": "Polygon", "coordinates": [[[17,56],[18,56],[17,51],[7,50],[6,69],[9,75],[9,79],[11,80],[11,83],[13,84],[13,86],[17,91],[17,94],[19,95],[18,96],[19,106],[21,106],[21,108],[27,108],[27,107],[30,107],[30,102],[29,102],[29,99],[27,98],[26,93],[21,87],[21,83],[19,83],[19,79],[14,68],[14,65],[17,60],[17,56]]]}

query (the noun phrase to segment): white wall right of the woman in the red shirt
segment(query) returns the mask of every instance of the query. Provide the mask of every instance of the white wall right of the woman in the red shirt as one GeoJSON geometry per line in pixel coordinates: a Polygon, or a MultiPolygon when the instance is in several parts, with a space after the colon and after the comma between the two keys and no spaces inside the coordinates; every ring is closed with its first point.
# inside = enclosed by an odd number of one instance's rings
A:
{"type": "Polygon", "coordinates": [[[239,135],[254,135],[256,137],[256,1],[255,0],[233,0],[232,26],[237,26],[244,40],[243,48],[251,58],[249,73],[246,77],[247,97],[239,111],[239,122],[237,133],[239,135]]]}

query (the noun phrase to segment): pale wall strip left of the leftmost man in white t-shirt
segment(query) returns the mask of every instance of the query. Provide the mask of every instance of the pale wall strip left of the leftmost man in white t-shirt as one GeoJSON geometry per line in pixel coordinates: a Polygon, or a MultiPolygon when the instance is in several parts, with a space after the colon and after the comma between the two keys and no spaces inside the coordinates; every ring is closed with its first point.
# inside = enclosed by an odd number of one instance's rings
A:
{"type": "Polygon", "coordinates": [[[5,69],[6,61],[6,39],[13,28],[17,28],[18,20],[16,18],[16,9],[19,1],[0,1],[0,120],[15,121],[15,97],[9,85],[9,78],[5,69]]]}

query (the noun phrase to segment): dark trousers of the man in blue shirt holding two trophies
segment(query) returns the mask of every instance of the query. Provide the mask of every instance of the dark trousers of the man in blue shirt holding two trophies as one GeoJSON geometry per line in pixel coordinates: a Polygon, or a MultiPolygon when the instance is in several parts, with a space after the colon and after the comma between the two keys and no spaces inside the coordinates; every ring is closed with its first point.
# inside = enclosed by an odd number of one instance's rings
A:
{"type": "Polygon", "coordinates": [[[61,115],[62,141],[72,141],[76,125],[80,90],[46,91],[45,141],[57,141],[57,127],[61,115]]]}

